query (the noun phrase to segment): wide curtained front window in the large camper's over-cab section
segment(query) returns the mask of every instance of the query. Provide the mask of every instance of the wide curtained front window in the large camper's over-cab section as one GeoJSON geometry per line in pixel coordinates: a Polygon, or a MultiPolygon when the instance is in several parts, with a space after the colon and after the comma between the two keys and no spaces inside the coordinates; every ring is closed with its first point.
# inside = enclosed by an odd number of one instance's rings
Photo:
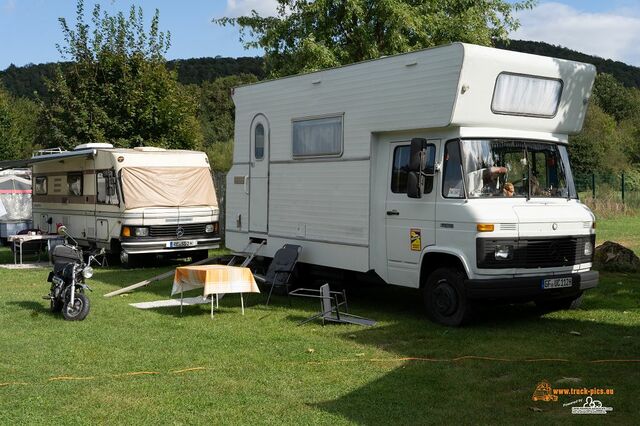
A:
{"type": "Polygon", "coordinates": [[[496,80],[491,110],[496,114],[551,118],[556,115],[562,80],[501,73],[496,80]]]}

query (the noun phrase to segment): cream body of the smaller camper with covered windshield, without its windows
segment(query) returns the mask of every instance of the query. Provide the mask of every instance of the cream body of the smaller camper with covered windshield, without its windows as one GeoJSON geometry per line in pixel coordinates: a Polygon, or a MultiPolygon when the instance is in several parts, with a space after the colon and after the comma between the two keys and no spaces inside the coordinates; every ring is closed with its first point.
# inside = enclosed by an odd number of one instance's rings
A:
{"type": "MultiPolygon", "coordinates": [[[[73,151],[65,152],[64,160],[53,155],[51,161],[45,156],[34,157],[33,163],[34,227],[47,232],[55,232],[56,226],[64,224],[70,235],[86,246],[104,247],[107,250],[120,250],[129,254],[165,253],[182,250],[208,250],[219,245],[220,238],[198,238],[196,245],[180,250],[167,246],[167,242],[178,239],[176,235],[163,235],[163,238],[151,238],[145,241],[125,242],[122,228],[194,226],[218,222],[218,206],[183,207],[125,207],[122,182],[123,168],[182,167],[209,168],[206,155],[195,151],[161,150],[156,148],[88,150],[86,155],[72,156],[73,151]],[[43,161],[44,160],[44,161],[43,161]],[[100,202],[98,199],[97,175],[101,171],[113,171],[116,179],[117,194],[114,203],[100,202]],[[81,195],[73,195],[69,188],[68,177],[81,176],[81,195]],[[45,179],[45,187],[38,188],[38,179],[45,179]],[[40,191],[40,192],[39,192],[40,191]],[[162,240],[162,241],[161,241],[162,240]],[[166,241],[164,241],[166,240],[166,241]],[[114,246],[114,242],[115,246],[114,246]],[[120,247],[120,245],[122,247],[120,247]]],[[[104,193],[104,188],[102,189],[104,193]]],[[[174,233],[175,234],[175,233],[174,233]]],[[[196,239],[194,236],[193,239],[196,239]]]]}

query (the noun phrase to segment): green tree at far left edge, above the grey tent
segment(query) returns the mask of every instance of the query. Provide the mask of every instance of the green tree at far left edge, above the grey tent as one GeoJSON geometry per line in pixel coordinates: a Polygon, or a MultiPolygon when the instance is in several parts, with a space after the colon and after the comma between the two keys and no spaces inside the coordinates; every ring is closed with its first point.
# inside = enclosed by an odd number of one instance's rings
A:
{"type": "Polygon", "coordinates": [[[28,158],[34,150],[38,105],[0,86],[0,160],[28,158]]]}

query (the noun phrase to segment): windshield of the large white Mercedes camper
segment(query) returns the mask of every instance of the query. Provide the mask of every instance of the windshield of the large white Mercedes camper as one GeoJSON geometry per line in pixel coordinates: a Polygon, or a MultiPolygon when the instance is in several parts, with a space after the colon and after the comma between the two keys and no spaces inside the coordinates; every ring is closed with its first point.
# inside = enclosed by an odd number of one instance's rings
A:
{"type": "Polygon", "coordinates": [[[523,140],[462,140],[469,198],[576,198],[567,148],[523,140]]]}

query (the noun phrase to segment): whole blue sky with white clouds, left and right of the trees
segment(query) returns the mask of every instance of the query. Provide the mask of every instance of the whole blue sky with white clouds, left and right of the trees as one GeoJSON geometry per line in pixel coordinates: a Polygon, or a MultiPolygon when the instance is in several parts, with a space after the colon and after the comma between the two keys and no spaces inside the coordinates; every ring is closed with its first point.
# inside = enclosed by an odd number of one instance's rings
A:
{"type": "MultiPolygon", "coordinates": [[[[508,0],[513,2],[515,0],[508,0]]],[[[91,12],[96,0],[85,0],[91,12]]],[[[276,0],[99,0],[114,14],[141,6],[149,22],[160,10],[160,29],[171,32],[168,59],[258,56],[244,50],[237,29],[211,22],[242,16],[255,9],[273,14],[276,0]]],[[[0,70],[10,64],[62,60],[59,17],[75,22],[75,0],[0,0],[0,70]]],[[[89,13],[87,13],[88,15],[89,13]]],[[[640,0],[539,0],[533,10],[518,13],[521,26],[512,39],[544,41],[590,55],[640,66],[640,0]]]]}

